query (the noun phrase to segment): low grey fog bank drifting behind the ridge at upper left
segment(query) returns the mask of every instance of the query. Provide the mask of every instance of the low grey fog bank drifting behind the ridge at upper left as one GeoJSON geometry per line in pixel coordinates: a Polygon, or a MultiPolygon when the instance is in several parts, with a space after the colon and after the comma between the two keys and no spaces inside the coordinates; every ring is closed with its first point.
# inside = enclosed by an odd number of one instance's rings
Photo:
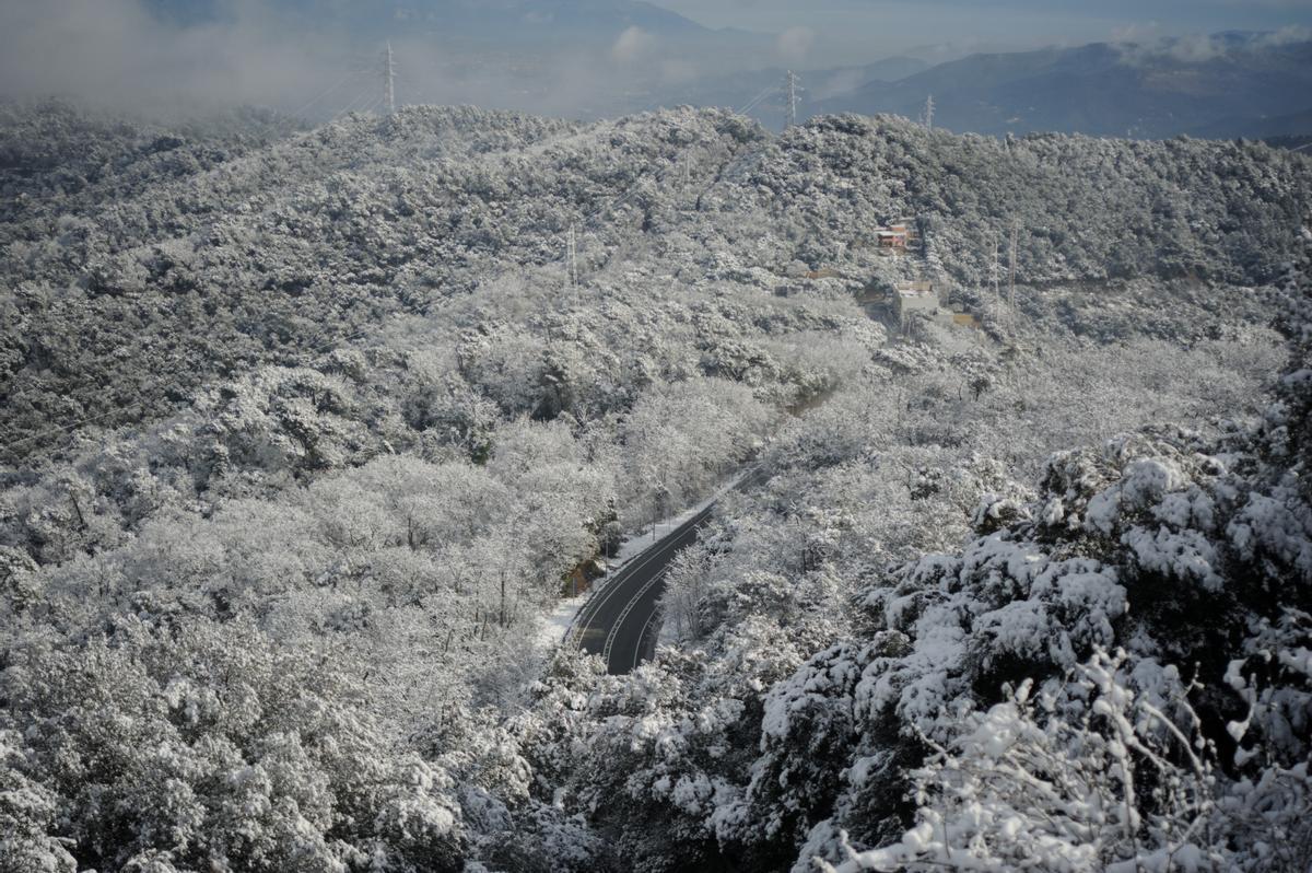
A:
{"type": "Polygon", "coordinates": [[[656,32],[606,20],[590,30],[559,21],[525,29],[520,21],[499,39],[485,21],[443,30],[432,16],[407,20],[395,9],[361,26],[359,11],[293,16],[295,4],[237,0],[222,14],[182,16],[160,14],[161,0],[154,3],[154,12],[143,0],[0,7],[0,97],[60,97],[152,117],[251,105],[320,122],[383,108],[390,41],[400,104],[594,118],[681,95],[741,105],[762,75],[774,75],[745,71],[803,63],[810,51],[807,34],[710,32],[691,22],[656,32]],[[699,84],[708,80],[708,89],[699,84]]]}

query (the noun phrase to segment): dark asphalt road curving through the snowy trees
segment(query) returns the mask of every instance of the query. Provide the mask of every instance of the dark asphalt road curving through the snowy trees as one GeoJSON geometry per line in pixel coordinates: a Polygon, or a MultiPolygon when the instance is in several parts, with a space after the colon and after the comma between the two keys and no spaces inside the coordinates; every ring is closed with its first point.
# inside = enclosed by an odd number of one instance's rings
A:
{"type": "MultiPolygon", "coordinates": [[[[741,490],[761,477],[761,469],[753,467],[733,487],[741,490]]],[[[621,567],[579,610],[565,639],[601,655],[606,672],[613,675],[627,673],[649,660],[656,654],[665,571],[674,555],[697,540],[714,509],[712,503],[621,567]]]]}

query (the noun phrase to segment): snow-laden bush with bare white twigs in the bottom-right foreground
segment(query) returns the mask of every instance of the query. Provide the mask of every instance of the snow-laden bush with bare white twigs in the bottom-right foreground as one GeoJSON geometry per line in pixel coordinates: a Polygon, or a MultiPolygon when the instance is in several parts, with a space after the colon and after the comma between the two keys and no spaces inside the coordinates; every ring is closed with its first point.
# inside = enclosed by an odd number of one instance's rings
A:
{"type": "MultiPolygon", "coordinates": [[[[1202,872],[1233,862],[1215,752],[1172,670],[1096,651],[958,719],[911,772],[916,826],[829,873],[1042,869],[1202,872]],[[1147,688],[1139,687],[1149,679],[1147,688]],[[1165,710],[1165,712],[1164,712],[1165,710]],[[1176,726],[1183,718],[1186,729],[1176,726]],[[1187,733],[1185,733],[1187,730],[1187,733]]],[[[840,844],[845,840],[840,836],[840,844]]]]}

